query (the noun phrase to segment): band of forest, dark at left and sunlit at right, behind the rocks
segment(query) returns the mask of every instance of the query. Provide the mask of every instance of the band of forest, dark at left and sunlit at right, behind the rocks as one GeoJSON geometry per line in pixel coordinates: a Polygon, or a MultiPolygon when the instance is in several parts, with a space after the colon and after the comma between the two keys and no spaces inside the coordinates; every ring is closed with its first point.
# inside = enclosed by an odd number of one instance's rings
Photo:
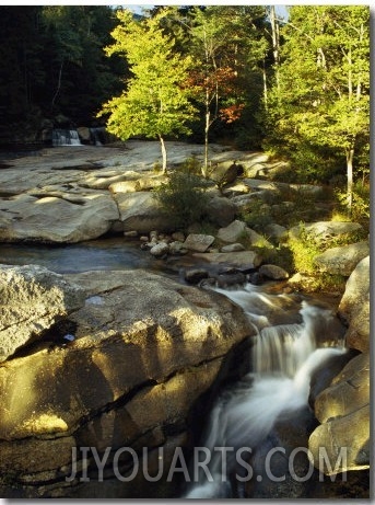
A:
{"type": "Polygon", "coordinates": [[[0,9],[2,141],[107,125],[263,149],[291,160],[293,182],[367,182],[368,7],[0,9]]]}

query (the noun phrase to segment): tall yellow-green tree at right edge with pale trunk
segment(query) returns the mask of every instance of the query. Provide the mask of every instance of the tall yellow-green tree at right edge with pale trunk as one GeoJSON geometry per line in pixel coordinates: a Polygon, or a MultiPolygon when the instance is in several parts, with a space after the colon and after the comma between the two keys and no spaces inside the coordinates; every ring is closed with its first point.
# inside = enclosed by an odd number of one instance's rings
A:
{"type": "Polygon", "coordinates": [[[292,7],[282,34],[268,131],[290,151],[344,158],[350,208],[355,158],[370,144],[368,7],[292,7]]]}

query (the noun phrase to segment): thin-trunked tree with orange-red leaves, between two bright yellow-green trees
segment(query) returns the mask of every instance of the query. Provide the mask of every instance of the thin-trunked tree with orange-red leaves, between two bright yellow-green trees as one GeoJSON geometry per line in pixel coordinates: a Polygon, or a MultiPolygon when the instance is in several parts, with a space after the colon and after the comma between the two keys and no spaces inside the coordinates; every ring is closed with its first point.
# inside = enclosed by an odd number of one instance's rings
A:
{"type": "Polygon", "coordinates": [[[233,139],[233,125],[243,116],[247,118],[247,123],[242,124],[244,130],[248,131],[255,123],[262,93],[258,62],[265,57],[266,14],[262,7],[238,5],[184,7],[168,11],[165,25],[176,34],[179,47],[191,55],[195,64],[188,85],[200,111],[204,177],[209,175],[210,138],[222,133],[233,139]]]}

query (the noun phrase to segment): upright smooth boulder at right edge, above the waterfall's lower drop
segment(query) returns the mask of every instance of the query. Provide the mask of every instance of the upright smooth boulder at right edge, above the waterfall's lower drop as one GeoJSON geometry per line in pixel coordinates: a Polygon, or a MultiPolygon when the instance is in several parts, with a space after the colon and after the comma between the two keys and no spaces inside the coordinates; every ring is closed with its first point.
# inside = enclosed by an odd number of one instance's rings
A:
{"type": "Polygon", "coordinates": [[[339,305],[339,315],[349,325],[347,345],[370,351],[370,256],[364,257],[350,275],[339,305]]]}

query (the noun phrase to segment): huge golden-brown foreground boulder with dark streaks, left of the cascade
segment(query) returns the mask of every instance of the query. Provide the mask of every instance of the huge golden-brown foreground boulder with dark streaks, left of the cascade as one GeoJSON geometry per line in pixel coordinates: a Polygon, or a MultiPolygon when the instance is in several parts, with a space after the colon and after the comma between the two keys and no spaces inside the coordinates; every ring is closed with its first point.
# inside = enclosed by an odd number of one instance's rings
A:
{"type": "MultiPolygon", "coordinates": [[[[74,341],[45,340],[44,347],[0,367],[0,471],[23,497],[133,497],[132,486],[99,490],[80,475],[67,483],[72,448],[94,447],[101,458],[110,450],[109,482],[116,480],[110,461],[117,450],[180,446],[190,408],[254,331],[242,309],[220,294],[144,271],[67,279],[86,296],[69,318],[74,341]]],[[[78,459],[80,469],[80,451],[78,459]]],[[[87,461],[94,472],[92,455],[87,461]]],[[[128,461],[119,464],[121,474],[132,470],[128,461]]],[[[140,487],[150,497],[144,480],[140,487]]]]}

